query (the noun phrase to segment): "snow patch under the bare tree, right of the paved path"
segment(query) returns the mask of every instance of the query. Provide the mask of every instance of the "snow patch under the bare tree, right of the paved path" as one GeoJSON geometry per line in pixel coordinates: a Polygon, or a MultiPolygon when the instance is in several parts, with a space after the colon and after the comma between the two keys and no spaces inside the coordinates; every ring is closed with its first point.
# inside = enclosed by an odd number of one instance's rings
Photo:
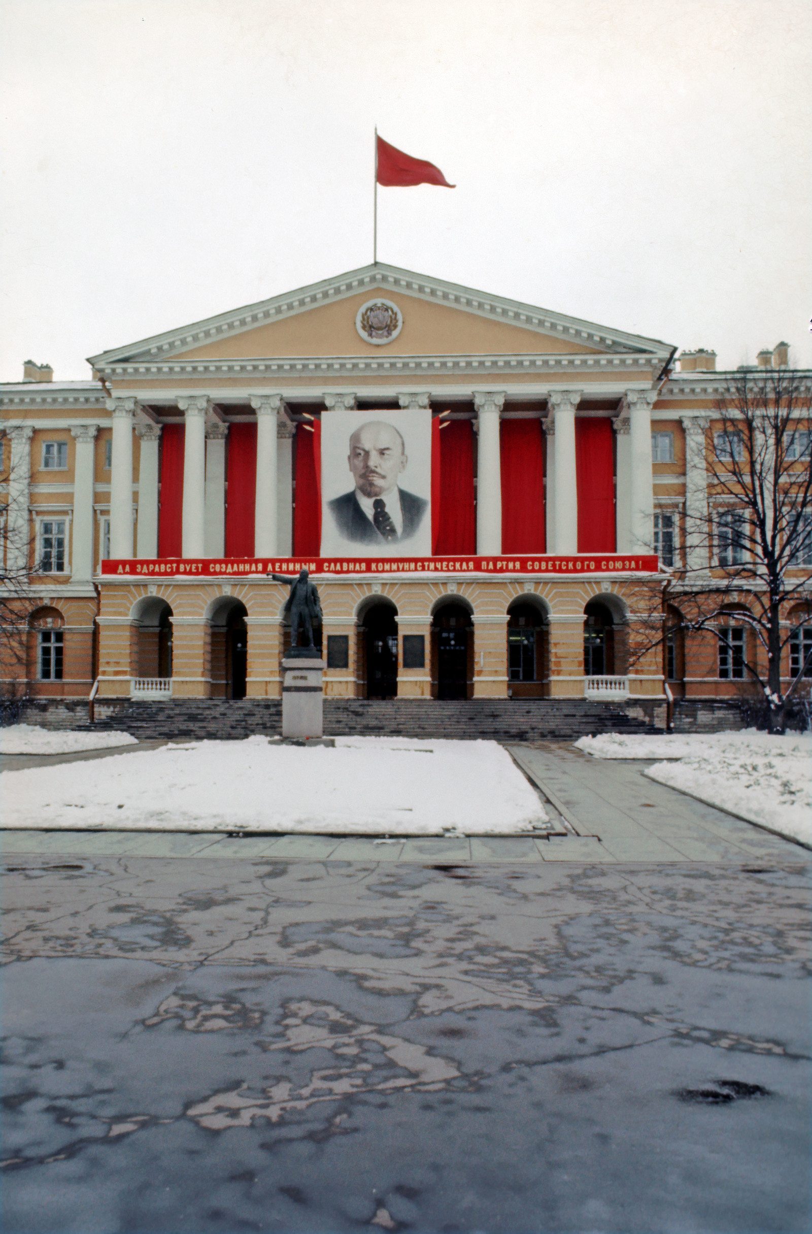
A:
{"type": "Polygon", "coordinates": [[[605,733],[575,745],[601,759],[668,759],[643,774],[812,847],[812,735],[605,733]]]}

